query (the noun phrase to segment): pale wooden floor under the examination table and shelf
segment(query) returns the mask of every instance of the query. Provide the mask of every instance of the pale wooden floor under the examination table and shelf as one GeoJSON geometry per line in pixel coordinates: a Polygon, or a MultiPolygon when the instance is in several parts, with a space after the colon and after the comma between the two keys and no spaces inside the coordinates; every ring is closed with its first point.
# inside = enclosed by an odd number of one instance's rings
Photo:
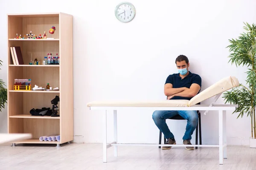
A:
{"type": "Polygon", "coordinates": [[[4,144],[0,170],[256,170],[256,149],[248,146],[228,146],[223,165],[216,147],[119,146],[118,155],[108,148],[108,163],[103,163],[102,144],[4,144]]]}

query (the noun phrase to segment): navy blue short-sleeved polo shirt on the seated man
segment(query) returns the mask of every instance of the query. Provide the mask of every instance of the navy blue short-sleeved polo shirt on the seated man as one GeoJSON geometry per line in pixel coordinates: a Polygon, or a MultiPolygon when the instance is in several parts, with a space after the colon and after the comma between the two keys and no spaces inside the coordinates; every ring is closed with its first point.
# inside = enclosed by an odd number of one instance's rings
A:
{"type": "MultiPolygon", "coordinates": [[[[171,83],[173,88],[183,88],[183,87],[190,88],[190,86],[193,83],[196,83],[196,84],[200,85],[200,88],[201,88],[202,79],[198,74],[194,74],[189,71],[189,75],[184,77],[184,79],[182,79],[180,77],[179,73],[169,75],[166,79],[166,83],[171,83]]],[[[192,99],[192,97],[174,96],[172,99],[174,99],[174,100],[177,100],[177,99],[190,100],[190,99],[192,99]]]]}

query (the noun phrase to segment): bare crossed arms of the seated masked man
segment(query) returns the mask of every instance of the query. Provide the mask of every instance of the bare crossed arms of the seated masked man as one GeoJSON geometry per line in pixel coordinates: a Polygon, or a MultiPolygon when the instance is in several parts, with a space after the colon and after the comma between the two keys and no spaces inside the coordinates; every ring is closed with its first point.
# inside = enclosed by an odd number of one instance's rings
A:
{"type": "Polygon", "coordinates": [[[171,83],[166,83],[164,85],[164,94],[167,96],[167,99],[172,99],[174,96],[180,97],[194,97],[198,94],[201,87],[200,85],[193,83],[190,88],[172,88],[171,83]]]}

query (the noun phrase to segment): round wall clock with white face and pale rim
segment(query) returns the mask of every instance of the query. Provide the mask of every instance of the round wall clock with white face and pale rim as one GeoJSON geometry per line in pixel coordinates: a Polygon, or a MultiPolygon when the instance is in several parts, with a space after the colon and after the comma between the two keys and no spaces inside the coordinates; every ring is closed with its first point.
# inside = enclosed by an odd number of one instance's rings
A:
{"type": "Polygon", "coordinates": [[[127,23],[134,18],[135,8],[128,2],[119,3],[115,9],[115,15],[119,21],[127,23]]]}

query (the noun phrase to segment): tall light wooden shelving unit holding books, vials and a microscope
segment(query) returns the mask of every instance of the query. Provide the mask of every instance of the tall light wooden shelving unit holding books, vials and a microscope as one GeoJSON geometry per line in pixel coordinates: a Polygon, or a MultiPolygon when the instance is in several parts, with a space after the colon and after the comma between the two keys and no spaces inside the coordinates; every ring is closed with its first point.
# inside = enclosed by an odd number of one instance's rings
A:
{"type": "Polygon", "coordinates": [[[31,133],[32,139],[14,143],[57,144],[73,140],[73,17],[64,13],[7,14],[8,17],[8,133],[31,133]],[[55,26],[54,39],[15,39],[16,34],[39,36],[55,26]],[[24,65],[14,65],[11,46],[20,46],[24,65]],[[47,53],[60,57],[59,65],[29,65],[37,57],[44,60],[47,53]],[[14,79],[31,79],[31,85],[59,91],[15,91],[14,79]],[[52,108],[51,100],[59,96],[59,117],[31,116],[32,108],[52,108]],[[58,141],[40,141],[40,136],[60,135],[58,141]]]}

